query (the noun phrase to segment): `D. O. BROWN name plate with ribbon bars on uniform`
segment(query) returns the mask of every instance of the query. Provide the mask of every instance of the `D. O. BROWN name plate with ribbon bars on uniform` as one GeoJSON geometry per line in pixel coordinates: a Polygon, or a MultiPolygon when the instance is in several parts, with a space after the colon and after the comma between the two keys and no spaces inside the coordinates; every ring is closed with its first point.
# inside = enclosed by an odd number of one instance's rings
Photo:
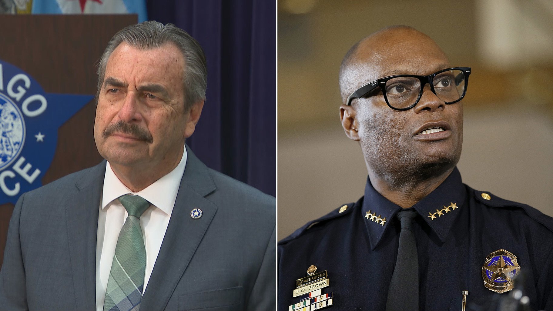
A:
{"type": "Polygon", "coordinates": [[[292,297],[300,297],[300,302],[289,305],[289,311],[311,311],[332,305],[332,292],[321,293],[321,288],[330,285],[326,270],[317,273],[317,267],[311,265],[306,272],[306,277],[296,279],[292,293],[292,297]]]}

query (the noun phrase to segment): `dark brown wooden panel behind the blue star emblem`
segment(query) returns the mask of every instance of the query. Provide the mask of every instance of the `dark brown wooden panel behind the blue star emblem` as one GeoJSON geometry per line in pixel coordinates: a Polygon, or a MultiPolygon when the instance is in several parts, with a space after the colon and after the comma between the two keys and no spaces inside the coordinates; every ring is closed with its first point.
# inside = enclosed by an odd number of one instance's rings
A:
{"type": "MultiPolygon", "coordinates": [[[[109,39],[137,20],[135,14],[0,15],[0,60],[27,72],[46,93],[95,95],[96,65],[109,39]]],[[[93,137],[95,109],[92,100],[59,128],[43,184],[102,160],[93,137]]],[[[12,212],[13,204],[0,205],[0,266],[12,212]]]]}

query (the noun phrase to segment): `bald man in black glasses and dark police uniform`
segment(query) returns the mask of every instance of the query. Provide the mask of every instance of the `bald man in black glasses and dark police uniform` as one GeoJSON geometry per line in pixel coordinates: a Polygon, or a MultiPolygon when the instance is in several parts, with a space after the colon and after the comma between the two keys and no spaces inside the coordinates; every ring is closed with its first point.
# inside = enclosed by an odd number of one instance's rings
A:
{"type": "Polygon", "coordinates": [[[279,310],[553,310],[553,219],[456,168],[470,74],[405,26],[348,51],[340,117],[365,194],[279,242],[279,310]]]}

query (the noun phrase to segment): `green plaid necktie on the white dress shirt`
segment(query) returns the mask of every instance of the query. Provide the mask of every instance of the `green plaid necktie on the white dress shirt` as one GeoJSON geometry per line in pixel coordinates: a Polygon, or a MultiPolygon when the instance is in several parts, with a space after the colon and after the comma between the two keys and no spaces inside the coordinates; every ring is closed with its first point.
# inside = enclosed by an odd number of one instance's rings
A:
{"type": "Polygon", "coordinates": [[[119,201],[129,215],[117,239],[103,309],[138,311],[146,269],[146,249],[140,229],[140,216],[150,203],[138,195],[130,194],[120,196],[119,201]]]}

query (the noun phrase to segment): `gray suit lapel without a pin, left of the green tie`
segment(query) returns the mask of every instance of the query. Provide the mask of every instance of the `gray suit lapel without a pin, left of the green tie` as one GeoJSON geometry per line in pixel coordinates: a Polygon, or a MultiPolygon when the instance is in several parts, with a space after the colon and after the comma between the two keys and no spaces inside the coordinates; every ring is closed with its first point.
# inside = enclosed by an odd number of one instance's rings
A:
{"type": "Polygon", "coordinates": [[[96,309],[96,238],[105,172],[103,161],[84,173],[75,184],[74,195],[68,195],[65,203],[77,310],[96,309]]]}

